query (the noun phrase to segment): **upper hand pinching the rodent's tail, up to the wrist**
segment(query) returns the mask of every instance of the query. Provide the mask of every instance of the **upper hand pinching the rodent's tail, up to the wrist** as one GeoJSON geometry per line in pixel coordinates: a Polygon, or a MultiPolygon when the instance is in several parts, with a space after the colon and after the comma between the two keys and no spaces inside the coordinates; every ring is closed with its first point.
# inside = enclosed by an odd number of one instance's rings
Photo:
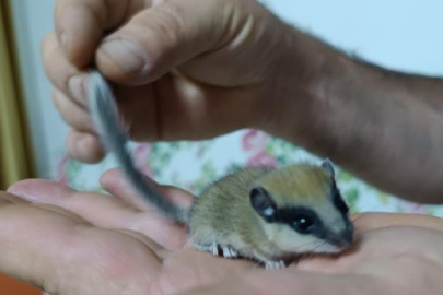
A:
{"type": "Polygon", "coordinates": [[[72,127],[69,153],[83,162],[104,154],[85,102],[83,70],[93,62],[116,82],[135,140],[267,129],[288,113],[283,81],[308,84],[303,50],[313,46],[255,0],[58,0],[55,21],[43,44],[45,69],[55,105],[72,127]],[[300,76],[289,78],[281,71],[296,38],[300,76]]]}

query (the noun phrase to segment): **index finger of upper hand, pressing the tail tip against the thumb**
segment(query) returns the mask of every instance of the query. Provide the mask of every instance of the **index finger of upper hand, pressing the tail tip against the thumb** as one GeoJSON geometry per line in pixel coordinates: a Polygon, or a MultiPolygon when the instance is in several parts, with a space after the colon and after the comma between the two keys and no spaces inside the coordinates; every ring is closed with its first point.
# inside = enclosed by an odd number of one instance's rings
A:
{"type": "Polygon", "coordinates": [[[113,30],[145,7],[140,0],[58,0],[56,32],[69,61],[83,68],[93,61],[106,31],[113,30]]]}

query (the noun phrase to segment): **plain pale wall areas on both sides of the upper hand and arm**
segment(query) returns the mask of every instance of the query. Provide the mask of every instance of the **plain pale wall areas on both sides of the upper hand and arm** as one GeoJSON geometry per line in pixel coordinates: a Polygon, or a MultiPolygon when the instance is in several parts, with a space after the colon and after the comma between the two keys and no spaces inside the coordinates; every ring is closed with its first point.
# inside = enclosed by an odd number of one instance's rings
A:
{"type": "MultiPolygon", "coordinates": [[[[50,177],[67,127],[51,104],[40,42],[53,28],[55,0],[14,0],[22,79],[40,177],[50,177]]],[[[326,40],[401,70],[443,74],[441,0],[264,0],[287,21],[326,40]]]]}

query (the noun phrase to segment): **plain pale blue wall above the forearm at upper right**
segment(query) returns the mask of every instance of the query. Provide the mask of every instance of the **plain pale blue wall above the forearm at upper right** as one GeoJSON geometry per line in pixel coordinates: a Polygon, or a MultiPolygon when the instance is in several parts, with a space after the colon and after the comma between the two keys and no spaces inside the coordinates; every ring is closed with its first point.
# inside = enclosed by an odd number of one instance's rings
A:
{"type": "Polygon", "coordinates": [[[290,23],[393,69],[443,75],[442,0],[264,0],[290,23]]]}

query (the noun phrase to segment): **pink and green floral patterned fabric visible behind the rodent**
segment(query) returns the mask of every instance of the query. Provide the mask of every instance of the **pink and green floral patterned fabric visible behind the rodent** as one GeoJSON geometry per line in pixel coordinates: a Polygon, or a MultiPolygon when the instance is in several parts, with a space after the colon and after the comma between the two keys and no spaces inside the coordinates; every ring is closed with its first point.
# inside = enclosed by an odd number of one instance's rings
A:
{"type": "MultiPolygon", "coordinates": [[[[164,185],[173,185],[198,196],[218,178],[245,166],[279,167],[319,158],[285,141],[258,130],[242,130],[199,142],[133,143],[138,168],[164,185]]],[[[81,164],[63,154],[57,180],[78,190],[101,191],[100,176],[115,167],[109,156],[98,165],[81,164]]],[[[443,206],[420,205],[386,194],[337,167],[337,182],[352,212],[410,212],[443,216],[443,206]]]]}

